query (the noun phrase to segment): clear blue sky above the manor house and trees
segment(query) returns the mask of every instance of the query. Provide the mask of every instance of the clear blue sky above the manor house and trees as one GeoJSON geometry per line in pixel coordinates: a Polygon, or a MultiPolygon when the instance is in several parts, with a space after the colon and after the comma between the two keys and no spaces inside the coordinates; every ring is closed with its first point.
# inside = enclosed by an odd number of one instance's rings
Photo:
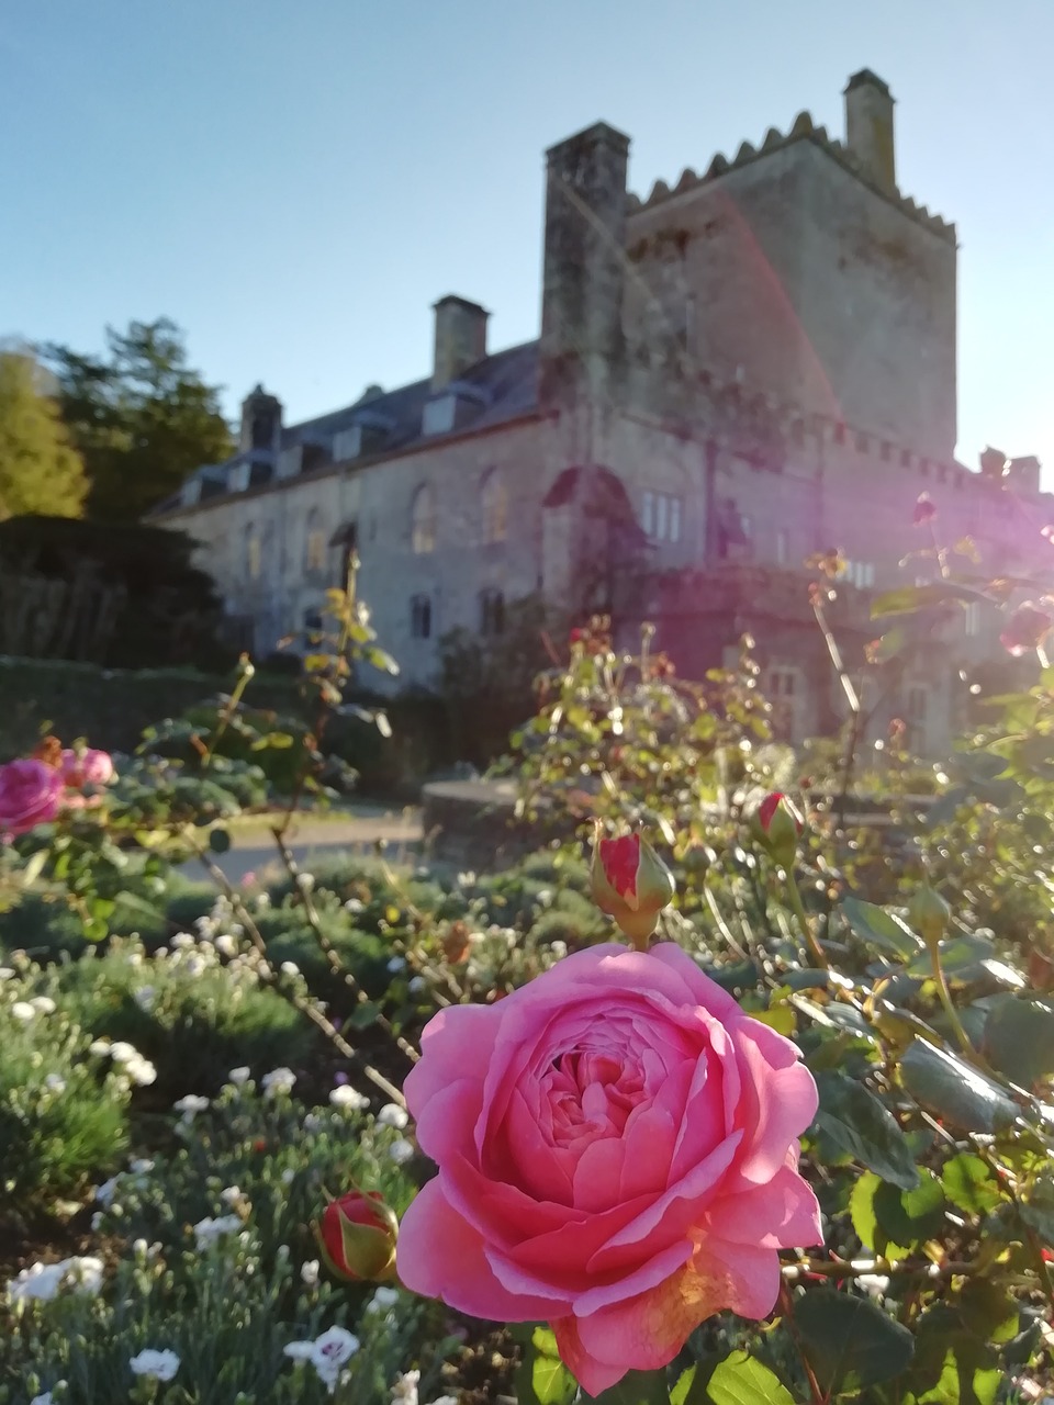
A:
{"type": "Polygon", "coordinates": [[[631,188],[867,66],[901,188],[958,225],[960,457],[1054,485],[1051,0],[6,0],[0,336],[97,350],[162,313],[233,416],[430,364],[430,305],[537,334],[542,150],[604,118],[631,188]]]}

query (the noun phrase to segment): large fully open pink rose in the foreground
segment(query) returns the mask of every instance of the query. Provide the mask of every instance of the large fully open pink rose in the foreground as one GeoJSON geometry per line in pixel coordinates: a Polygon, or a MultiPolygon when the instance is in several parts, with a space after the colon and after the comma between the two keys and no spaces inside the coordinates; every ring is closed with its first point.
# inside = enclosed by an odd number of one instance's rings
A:
{"type": "Polygon", "coordinates": [[[440,1012],[406,1079],[438,1163],[408,1210],[406,1287],[548,1321],[596,1395],[722,1308],[763,1318],[777,1249],[821,1242],[797,1048],[679,947],[580,951],[493,1006],[440,1012]]]}

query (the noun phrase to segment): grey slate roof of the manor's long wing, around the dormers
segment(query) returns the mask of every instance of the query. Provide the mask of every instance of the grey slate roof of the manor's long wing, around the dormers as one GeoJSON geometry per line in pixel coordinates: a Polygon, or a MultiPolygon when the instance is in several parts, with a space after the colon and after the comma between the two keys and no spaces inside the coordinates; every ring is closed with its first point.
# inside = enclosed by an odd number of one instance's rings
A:
{"type": "MultiPolygon", "coordinates": [[[[363,462],[382,462],[419,443],[441,443],[444,438],[474,434],[533,413],[538,405],[537,370],[538,343],[526,341],[521,346],[485,357],[476,365],[469,367],[453,385],[440,391],[433,391],[429,377],[395,391],[368,392],[363,399],[344,409],[319,414],[312,420],[302,420],[299,424],[285,424],[280,447],[285,450],[298,444],[311,444],[327,450],[327,459],[323,464],[312,465],[302,475],[315,476],[333,472],[336,462],[343,462],[333,459],[333,441],[337,434],[360,423],[382,426],[385,433],[381,445],[375,451],[361,455],[363,462]],[[460,391],[465,406],[455,427],[445,434],[424,434],[422,429],[424,406],[450,391],[460,391]]],[[[246,462],[250,465],[250,489],[274,481],[274,465],[271,465],[270,455],[259,451],[236,454],[225,464],[205,464],[191,475],[191,478],[202,481],[201,502],[229,496],[226,475],[238,464],[246,462]]],[[[353,462],[358,462],[358,459],[353,462]]],[[[174,495],[159,503],[153,513],[176,511],[180,506],[181,497],[174,495]]]]}

